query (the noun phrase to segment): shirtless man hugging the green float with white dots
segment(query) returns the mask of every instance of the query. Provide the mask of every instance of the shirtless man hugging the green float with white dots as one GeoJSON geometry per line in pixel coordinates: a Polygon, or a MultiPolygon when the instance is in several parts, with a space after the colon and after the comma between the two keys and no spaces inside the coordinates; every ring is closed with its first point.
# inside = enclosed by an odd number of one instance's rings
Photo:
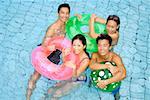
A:
{"type": "Polygon", "coordinates": [[[98,52],[92,54],[90,68],[92,70],[108,69],[113,77],[106,80],[98,80],[98,87],[105,88],[108,84],[118,82],[126,77],[126,69],[122,59],[116,53],[110,51],[112,39],[109,35],[101,34],[96,39],[98,45],[98,52]],[[114,62],[117,67],[108,64],[100,64],[100,62],[110,61],[114,62]]]}

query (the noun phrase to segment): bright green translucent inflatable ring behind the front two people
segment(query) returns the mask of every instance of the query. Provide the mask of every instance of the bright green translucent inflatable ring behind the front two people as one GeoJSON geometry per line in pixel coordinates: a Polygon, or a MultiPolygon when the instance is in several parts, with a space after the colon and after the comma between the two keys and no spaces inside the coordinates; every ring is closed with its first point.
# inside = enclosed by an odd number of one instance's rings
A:
{"type": "MultiPolygon", "coordinates": [[[[76,16],[70,18],[66,23],[66,37],[70,40],[77,35],[82,34],[85,36],[87,41],[87,51],[88,52],[97,52],[97,44],[96,39],[93,39],[89,36],[89,20],[91,15],[90,14],[83,14],[81,19],[78,19],[76,16]]],[[[107,34],[106,32],[106,25],[101,23],[94,24],[95,32],[97,34],[107,34]]]]}

